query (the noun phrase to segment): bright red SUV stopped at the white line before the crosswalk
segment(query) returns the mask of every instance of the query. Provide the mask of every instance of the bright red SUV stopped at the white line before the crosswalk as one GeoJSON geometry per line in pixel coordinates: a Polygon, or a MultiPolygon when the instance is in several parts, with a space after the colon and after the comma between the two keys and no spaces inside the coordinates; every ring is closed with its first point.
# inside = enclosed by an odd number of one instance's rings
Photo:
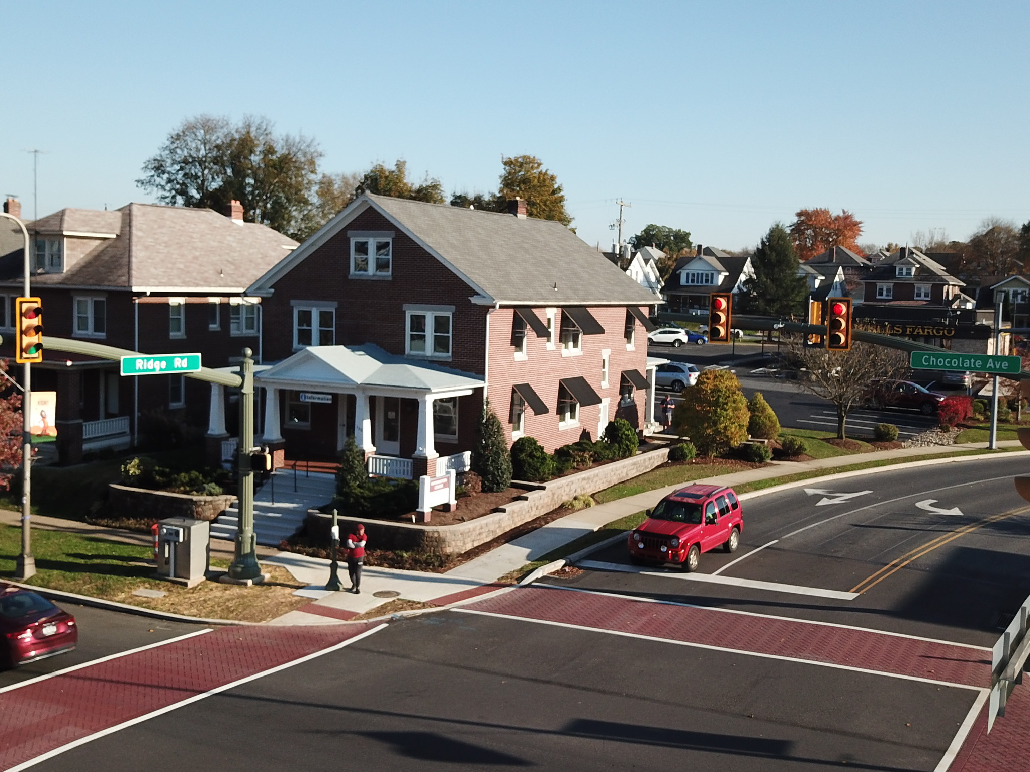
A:
{"type": "Polygon", "coordinates": [[[690,485],[665,496],[626,539],[634,563],[676,563],[696,571],[701,553],[736,552],[744,513],[732,488],[690,485]]]}

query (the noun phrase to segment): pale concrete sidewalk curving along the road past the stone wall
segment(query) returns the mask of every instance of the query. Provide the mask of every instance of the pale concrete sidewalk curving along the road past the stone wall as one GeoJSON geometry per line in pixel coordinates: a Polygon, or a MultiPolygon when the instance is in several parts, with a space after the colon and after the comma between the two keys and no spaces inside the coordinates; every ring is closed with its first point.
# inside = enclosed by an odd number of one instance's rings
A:
{"type": "MultiPolygon", "coordinates": [[[[1020,447],[1019,441],[1005,441],[998,443],[1000,448],[1020,447]]],[[[747,469],[745,471],[734,471],[728,475],[694,480],[692,483],[706,483],[710,485],[735,486],[744,483],[752,483],[756,480],[768,480],[769,478],[796,475],[805,471],[826,471],[831,473],[834,468],[850,466],[855,463],[866,463],[868,461],[881,461],[886,459],[904,459],[918,461],[924,458],[932,458],[934,455],[942,453],[953,453],[963,450],[983,450],[987,448],[987,443],[971,443],[966,445],[934,445],[925,448],[899,448],[897,450],[873,451],[871,453],[856,453],[848,456],[834,456],[832,458],[818,458],[811,461],[774,461],[768,466],[757,469],[747,469]]],[[[684,483],[677,483],[664,488],[656,488],[645,493],[638,493],[634,496],[626,496],[608,503],[597,504],[587,510],[579,510],[566,517],[559,518],[552,523],[548,523],[542,528],[538,528],[531,533],[520,536],[507,545],[502,545],[495,550],[480,555],[478,558],[470,560],[468,563],[453,568],[445,575],[460,575],[467,578],[478,580],[480,582],[494,581],[506,573],[518,570],[526,563],[540,560],[549,552],[562,547],[587,533],[593,533],[603,526],[614,520],[619,520],[628,515],[633,515],[643,510],[653,507],[662,498],[673,491],[682,488],[684,483]]]]}

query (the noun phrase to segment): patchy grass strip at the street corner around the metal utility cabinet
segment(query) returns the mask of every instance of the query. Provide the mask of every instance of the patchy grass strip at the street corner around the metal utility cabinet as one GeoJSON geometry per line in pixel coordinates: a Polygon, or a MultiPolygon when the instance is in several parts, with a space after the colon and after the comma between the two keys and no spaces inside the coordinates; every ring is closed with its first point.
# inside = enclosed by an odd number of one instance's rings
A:
{"type": "MultiPolygon", "coordinates": [[[[0,525],[0,576],[13,576],[20,551],[21,528],[0,525]]],[[[33,530],[32,552],[37,573],[27,584],[173,613],[265,622],[311,602],[310,598],[293,595],[294,590],[303,585],[279,567],[266,568],[272,574],[267,585],[238,587],[203,582],[186,589],[150,578],[154,569],[145,562],[152,556],[147,547],[64,531],[33,530]],[[140,588],[168,594],[162,598],[141,598],[132,594],[140,588]]],[[[215,564],[212,561],[212,565],[215,564]]]]}

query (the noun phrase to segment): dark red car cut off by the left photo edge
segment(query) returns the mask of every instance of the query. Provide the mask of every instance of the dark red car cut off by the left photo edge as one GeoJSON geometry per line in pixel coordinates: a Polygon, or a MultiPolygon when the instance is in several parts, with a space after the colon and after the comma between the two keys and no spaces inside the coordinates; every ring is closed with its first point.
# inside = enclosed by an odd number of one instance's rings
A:
{"type": "Polygon", "coordinates": [[[5,651],[0,664],[26,662],[70,652],[78,642],[75,618],[39,593],[0,584],[0,633],[5,651]]]}

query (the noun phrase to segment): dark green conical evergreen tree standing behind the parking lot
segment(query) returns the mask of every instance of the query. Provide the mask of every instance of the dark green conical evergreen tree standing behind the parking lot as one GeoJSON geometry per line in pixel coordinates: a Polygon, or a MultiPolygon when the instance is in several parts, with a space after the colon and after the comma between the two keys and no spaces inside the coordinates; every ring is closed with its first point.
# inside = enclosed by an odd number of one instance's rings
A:
{"type": "Polygon", "coordinates": [[[797,252],[782,223],[762,237],[751,265],[755,275],[744,282],[749,311],[774,316],[802,312],[809,283],[798,275],[797,252]]]}

